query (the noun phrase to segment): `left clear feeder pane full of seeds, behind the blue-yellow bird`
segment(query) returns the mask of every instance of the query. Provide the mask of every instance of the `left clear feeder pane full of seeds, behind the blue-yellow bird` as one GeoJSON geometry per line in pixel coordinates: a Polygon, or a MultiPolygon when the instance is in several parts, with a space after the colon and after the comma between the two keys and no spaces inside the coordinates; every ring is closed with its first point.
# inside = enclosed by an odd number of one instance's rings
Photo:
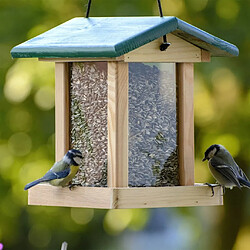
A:
{"type": "Polygon", "coordinates": [[[107,186],[107,63],[72,63],[70,78],[71,148],[84,160],[73,183],[107,186]]]}

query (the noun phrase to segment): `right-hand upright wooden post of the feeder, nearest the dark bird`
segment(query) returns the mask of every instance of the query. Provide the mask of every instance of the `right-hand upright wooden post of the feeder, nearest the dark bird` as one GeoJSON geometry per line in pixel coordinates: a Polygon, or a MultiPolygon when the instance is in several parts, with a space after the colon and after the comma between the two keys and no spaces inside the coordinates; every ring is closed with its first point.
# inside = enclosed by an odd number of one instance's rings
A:
{"type": "Polygon", "coordinates": [[[194,185],[194,67],[176,64],[180,184],[194,185]]]}

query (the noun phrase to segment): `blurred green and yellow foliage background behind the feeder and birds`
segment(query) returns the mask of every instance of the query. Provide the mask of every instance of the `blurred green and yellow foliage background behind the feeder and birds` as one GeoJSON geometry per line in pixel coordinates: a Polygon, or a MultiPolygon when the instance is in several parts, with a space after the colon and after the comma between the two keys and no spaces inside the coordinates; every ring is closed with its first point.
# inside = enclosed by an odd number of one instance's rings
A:
{"type": "MultiPolygon", "coordinates": [[[[93,0],[90,16],[158,15],[156,0],[93,0]]],[[[223,207],[94,210],[27,206],[24,185],[54,162],[54,65],[13,60],[13,46],[76,16],[87,1],[0,2],[0,242],[4,249],[234,249],[250,246],[250,191],[223,207]]],[[[214,182],[204,150],[221,143],[250,176],[249,0],[162,0],[177,16],[238,46],[195,67],[196,182],[214,182]]]]}

